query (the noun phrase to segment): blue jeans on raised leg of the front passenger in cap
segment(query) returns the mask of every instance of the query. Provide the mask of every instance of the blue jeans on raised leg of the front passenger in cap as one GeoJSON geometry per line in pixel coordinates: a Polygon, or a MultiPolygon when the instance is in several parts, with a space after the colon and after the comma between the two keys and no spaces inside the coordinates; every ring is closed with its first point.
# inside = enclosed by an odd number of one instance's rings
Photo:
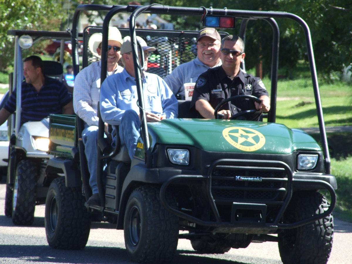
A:
{"type": "Polygon", "coordinates": [[[119,136],[121,145],[126,146],[131,161],[134,152],[136,152],[137,140],[140,136],[139,127],[140,121],[136,111],[126,110],[119,126],[119,136]]]}

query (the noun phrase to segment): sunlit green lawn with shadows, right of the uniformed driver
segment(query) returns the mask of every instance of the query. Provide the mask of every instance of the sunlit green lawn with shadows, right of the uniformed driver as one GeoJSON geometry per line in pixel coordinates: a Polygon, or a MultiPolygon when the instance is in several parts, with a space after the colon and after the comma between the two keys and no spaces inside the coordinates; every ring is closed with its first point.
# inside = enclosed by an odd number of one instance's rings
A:
{"type": "MultiPolygon", "coordinates": [[[[264,78],[263,82],[269,90],[270,80],[264,78]]],[[[325,125],[352,125],[352,85],[323,83],[319,89],[325,125]]],[[[310,79],[278,81],[276,122],[291,128],[319,126],[310,79]]]]}

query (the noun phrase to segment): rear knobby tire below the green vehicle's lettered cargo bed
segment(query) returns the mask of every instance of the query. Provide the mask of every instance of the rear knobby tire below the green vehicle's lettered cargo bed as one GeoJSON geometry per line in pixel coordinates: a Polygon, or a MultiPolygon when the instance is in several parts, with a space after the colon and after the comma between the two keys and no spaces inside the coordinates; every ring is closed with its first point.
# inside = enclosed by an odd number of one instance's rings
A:
{"type": "Polygon", "coordinates": [[[83,249],[90,232],[90,214],[81,188],[65,186],[65,177],[50,184],[45,202],[46,240],[54,249],[83,249]]]}

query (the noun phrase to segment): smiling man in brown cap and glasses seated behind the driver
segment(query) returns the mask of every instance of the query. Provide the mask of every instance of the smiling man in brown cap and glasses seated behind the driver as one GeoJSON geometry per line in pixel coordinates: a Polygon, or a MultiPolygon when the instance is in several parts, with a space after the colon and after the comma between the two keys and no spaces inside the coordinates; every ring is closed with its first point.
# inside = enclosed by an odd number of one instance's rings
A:
{"type": "Polygon", "coordinates": [[[184,83],[196,82],[199,75],[221,65],[221,37],[216,29],[206,27],[197,36],[197,57],[190,62],[178,65],[164,81],[178,99],[184,99],[184,83]]]}

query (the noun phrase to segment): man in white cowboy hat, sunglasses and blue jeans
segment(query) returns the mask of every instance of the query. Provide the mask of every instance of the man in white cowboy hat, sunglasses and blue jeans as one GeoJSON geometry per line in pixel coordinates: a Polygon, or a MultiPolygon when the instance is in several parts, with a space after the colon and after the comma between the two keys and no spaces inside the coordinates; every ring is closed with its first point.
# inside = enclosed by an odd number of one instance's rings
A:
{"type": "MultiPolygon", "coordinates": [[[[121,58],[121,39],[120,31],[116,27],[109,27],[107,76],[119,73],[123,70],[123,68],[117,64],[121,58]]],[[[101,44],[102,34],[92,34],[89,38],[88,46],[92,54],[99,58],[101,55],[101,44]]],[[[100,93],[100,74],[101,60],[93,62],[77,74],[73,90],[73,106],[75,113],[85,122],[82,140],[85,146],[88,170],[90,173],[89,185],[93,192],[93,195],[87,201],[89,205],[100,204],[98,185],[96,183],[96,146],[98,141],[97,111],[100,93]]]]}

